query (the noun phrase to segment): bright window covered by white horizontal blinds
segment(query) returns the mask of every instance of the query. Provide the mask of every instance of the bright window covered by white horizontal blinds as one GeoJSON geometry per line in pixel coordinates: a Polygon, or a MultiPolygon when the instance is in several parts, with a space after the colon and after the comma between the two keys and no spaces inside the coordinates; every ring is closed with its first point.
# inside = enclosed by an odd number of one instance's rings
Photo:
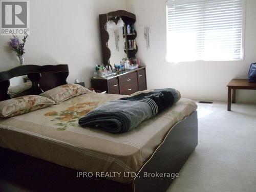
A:
{"type": "Polygon", "coordinates": [[[243,4],[244,0],[167,1],[167,61],[243,59],[243,4]]]}

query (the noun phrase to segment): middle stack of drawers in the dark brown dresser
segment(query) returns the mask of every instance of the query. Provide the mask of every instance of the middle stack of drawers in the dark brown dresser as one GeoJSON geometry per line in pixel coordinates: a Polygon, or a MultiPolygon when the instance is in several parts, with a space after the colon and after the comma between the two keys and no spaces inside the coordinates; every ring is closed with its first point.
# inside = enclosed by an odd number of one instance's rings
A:
{"type": "Polygon", "coordinates": [[[120,94],[130,95],[138,91],[137,72],[128,73],[119,77],[120,94]]]}

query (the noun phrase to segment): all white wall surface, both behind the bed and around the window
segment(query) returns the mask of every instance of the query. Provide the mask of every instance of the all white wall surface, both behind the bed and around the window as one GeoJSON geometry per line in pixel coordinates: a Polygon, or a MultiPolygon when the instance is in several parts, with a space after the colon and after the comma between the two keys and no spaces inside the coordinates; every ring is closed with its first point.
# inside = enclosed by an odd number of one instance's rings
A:
{"type": "MultiPolygon", "coordinates": [[[[198,100],[226,100],[226,84],[232,78],[246,78],[256,62],[256,1],[247,0],[244,61],[165,61],[165,0],[33,0],[31,35],[26,44],[27,64],[68,63],[69,82],[75,78],[90,86],[93,68],[102,62],[98,14],[126,9],[136,14],[137,56],[147,66],[148,88],[173,87],[183,97],[198,100]],[[144,26],[151,27],[151,49],[146,50],[144,26]]],[[[0,71],[17,65],[15,53],[0,36],[0,71]]],[[[185,55],[184,55],[185,56],[185,55]]],[[[238,91],[238,101],[256,102],[256,91],[238,91]]]]}

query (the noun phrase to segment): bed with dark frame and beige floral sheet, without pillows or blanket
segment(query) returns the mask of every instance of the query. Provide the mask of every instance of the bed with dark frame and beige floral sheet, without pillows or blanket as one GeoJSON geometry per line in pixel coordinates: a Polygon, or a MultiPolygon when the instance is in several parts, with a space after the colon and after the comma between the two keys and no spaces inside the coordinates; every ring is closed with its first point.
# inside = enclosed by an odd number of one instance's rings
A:
{"type": "MultiPolygon", "coordinates": [[[[27,65],[1,72],[0,100],[10,98],[12,77],[28,75],[30,94],[38,95],[66,84],[68,74],[67,65],[27,65]]],[[[122,97],[91,92],[45,109],[0,118],[0,155],[5,157],[0,190],[165,191],[197,146],[197,105],[182,98],[123,134],[82,128],[70,115],[76,111],[79,119],[122,97]],[[160,173],[164,176],[156,177],[160,173]]]]}

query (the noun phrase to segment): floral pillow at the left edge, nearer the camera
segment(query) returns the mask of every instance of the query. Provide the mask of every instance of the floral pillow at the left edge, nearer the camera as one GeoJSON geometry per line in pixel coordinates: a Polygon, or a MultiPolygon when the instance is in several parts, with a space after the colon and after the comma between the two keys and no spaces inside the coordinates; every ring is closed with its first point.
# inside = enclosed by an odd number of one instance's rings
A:
{"type": "Polygon", "coordinates": [[[54,104],[54,101],[39,95],[26,95],[0,101],[0,117],[13,117],[29,113],[38,109],[46,108],[54,104]]]}

